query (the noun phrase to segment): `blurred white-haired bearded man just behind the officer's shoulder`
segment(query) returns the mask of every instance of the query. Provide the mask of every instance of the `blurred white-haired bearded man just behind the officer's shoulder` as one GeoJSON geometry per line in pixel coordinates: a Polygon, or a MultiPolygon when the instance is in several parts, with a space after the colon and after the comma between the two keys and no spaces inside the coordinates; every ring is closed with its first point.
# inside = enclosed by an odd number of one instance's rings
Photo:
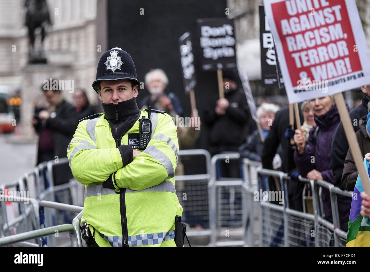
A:
{"type": "Polygon", "coordinates": [[[154,69],[149,71],[145,75],[145,87],[149,91],[150,95],[143,98],[139,102],[139,108],[145,109],[148,106],[155,108],[155,104],[158,103],[158,98],[165,93],[170,99],[174,107],[174,111],[179,116],[182,116],[183,110],[179,101],[179,98],[174,93],[165,92],[168,86],[168,78],[162,69],[154,69]]]}

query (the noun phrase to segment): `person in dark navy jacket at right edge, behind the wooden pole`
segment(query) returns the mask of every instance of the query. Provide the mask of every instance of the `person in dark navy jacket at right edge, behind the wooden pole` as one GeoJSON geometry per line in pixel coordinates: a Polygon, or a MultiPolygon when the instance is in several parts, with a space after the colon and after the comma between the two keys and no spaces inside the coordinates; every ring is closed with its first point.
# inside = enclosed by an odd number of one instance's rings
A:
{"type": "MultiPolygon", "coordinates": [[[[370,101],[370,84],[361,86],[361,91],[363,92],[362,104],[351,110],[349,113],[354,132],[357,132],[360,128],[359,121],[361,117],[367,114],[367,104],[370,101]]],[[[348,148],[349,144],[346,133],[344,132],[342,122],[340,122],[336,132],[334,132],[332,144],[334,181],[340,188],[342,186],[344,159],[346,158],[348,148]]]]}

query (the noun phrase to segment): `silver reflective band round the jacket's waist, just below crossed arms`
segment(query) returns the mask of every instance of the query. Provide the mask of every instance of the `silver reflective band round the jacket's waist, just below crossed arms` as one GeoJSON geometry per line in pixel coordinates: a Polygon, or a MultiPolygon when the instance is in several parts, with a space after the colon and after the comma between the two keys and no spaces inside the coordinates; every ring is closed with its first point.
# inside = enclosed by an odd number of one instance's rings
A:
{"type": "MultiPolygon", "coordinates": [[[[136,191],[126,188],[127,193],[138,193],[138,192],[170,192],[176,193],[175,184],[171,181],[162,181],[158,185],[154,185],[147,189],[136,191]]],[[[103,188],[102,184],[91,185],[85,188],[85,198],[86,197],[94,197],[97,195],[113,195],[116,192],[113,189],[103,188]]]]}

